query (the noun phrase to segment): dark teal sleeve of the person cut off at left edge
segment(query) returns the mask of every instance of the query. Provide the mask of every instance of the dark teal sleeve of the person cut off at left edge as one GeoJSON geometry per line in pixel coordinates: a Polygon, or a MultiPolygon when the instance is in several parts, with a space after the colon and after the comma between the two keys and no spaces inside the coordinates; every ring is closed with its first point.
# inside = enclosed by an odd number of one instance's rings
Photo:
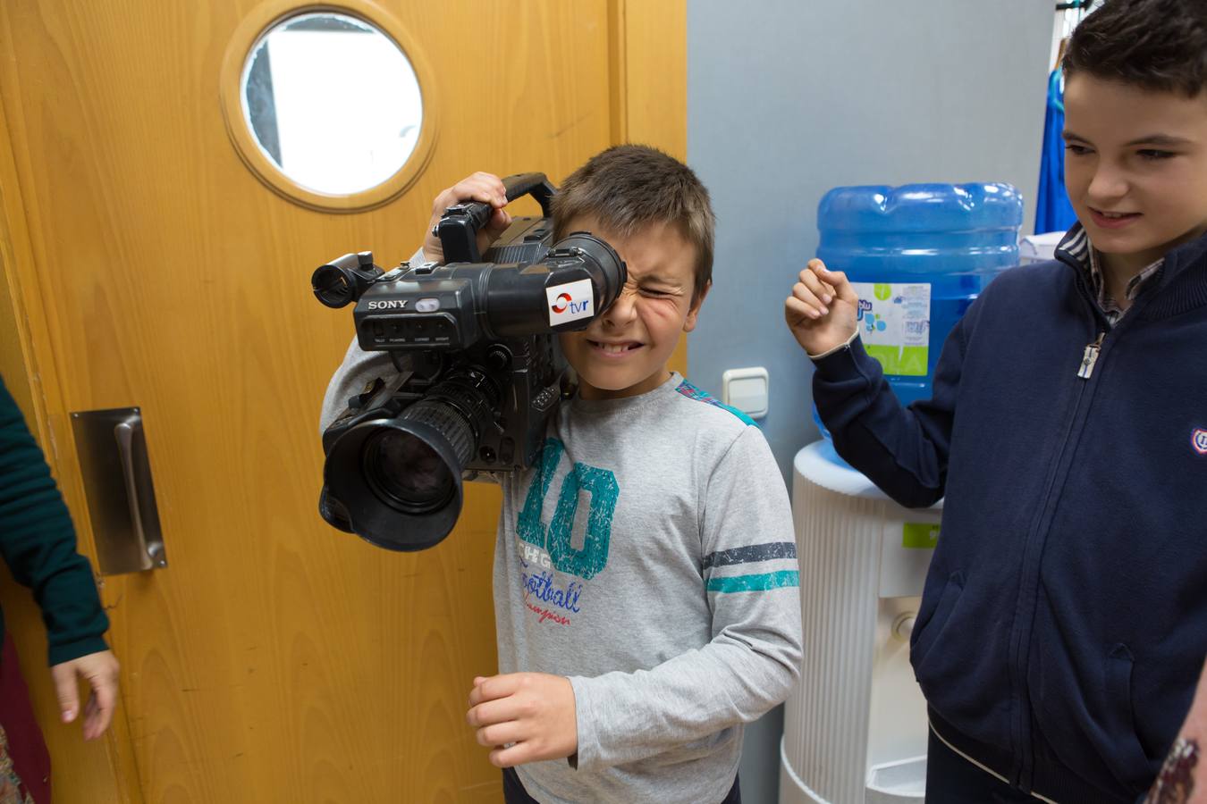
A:
{"type": "Polygon", "coordinates": [[[109,618],[42,451],[0,380],[0,556],[42,610],[49,663],[107,650],[109,618]]]}

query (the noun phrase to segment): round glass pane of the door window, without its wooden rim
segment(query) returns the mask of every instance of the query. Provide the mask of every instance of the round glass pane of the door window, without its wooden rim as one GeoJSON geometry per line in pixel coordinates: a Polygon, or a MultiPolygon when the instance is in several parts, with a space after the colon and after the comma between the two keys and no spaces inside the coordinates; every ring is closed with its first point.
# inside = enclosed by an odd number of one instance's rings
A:
{"type": "Polygon", "coordinates": [[[406,164],[419,140],[419,81],[402,48],[336,12],[290,17],[243,69],[243,115],[260,149],[302,187],[350,195],[406,164]]]}

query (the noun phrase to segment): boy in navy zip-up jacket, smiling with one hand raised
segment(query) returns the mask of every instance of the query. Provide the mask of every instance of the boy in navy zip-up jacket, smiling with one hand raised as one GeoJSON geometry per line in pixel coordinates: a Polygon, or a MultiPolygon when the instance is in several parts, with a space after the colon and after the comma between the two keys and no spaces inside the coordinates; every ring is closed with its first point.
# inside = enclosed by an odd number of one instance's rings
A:
{"type": "Polygon", "coordinates": [[[931,400],[897,403],[841,272],[786,301],[838,452],[945,498],[911,639],[931,803],[1137,800],[1207,653],[1207,4],[1107,0],[1063,69],[1079,223],[972,305],[931,400]]]}

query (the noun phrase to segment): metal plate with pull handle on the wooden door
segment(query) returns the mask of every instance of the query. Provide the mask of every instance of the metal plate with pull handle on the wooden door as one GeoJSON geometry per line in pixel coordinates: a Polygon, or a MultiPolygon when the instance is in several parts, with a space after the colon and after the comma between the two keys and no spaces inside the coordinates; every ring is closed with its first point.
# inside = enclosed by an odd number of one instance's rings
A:
{"type": "Polygon", "coordinates": [[[100,574],[167,567],[139,409],[78,411],[71,428],[100,574]]]}

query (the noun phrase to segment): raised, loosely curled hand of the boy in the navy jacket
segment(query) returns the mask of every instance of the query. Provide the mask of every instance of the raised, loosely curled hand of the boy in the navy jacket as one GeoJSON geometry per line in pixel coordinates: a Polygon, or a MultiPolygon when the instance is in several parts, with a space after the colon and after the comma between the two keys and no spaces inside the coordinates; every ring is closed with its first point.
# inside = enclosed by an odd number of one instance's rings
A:
{"type": "Polygon", "coordinates": [[[783,303],[783,319],[809,354],[839,347],[855,333],[859,297],[842,271],[832,271],[820,259],[809,260],[783,303]]]}

